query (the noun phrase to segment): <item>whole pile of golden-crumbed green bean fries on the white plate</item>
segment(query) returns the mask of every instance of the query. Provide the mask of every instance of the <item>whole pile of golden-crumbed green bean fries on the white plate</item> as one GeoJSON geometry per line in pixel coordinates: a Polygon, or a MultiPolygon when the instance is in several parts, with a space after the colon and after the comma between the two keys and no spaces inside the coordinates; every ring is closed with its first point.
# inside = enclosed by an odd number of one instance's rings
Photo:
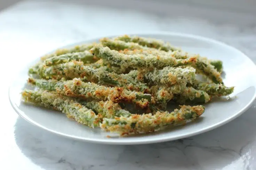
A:
{"type": "Polygon", "coordinates": [[[222,61],[122,35],[41,57],[27,80],[38,88],[23,90],[22,100],[121,136],[150,133],[196,119],[205,112],[201,104],[233,93],[222,71],[222,61]],[[199,74],[207,81],[197,79],[199,74]],[[171,102],[180,108],[167,111],[171,102]]]}

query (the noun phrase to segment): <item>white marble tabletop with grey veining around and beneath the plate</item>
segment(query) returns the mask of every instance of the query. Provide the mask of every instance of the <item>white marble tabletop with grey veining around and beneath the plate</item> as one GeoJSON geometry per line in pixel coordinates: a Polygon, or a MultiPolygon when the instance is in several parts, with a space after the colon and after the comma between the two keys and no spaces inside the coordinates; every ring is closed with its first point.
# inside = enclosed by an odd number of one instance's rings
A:
{"type": "Polygon", "coordinates": [[[30,59],[87,37],[143,30],[192,33],[230,44],[256,62],[255,14],[155,1],[104,2],[107,7],[89,3],[99,0],[23,1],[0,13],[1,169],[256,170],[255,104],[242,116],[207,133],[133,146],[72,141],[18,117],[7,90],[15,72],[30,59]]]}

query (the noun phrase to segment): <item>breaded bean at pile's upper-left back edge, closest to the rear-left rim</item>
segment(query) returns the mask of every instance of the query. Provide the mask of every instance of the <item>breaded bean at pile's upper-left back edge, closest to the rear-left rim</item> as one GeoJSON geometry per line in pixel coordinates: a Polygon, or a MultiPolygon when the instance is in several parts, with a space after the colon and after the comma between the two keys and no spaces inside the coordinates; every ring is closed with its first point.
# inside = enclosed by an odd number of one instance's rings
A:
{"type": "Polygon", "coordinates": [[[41,57],[41,61],[43,61],[47,58],[51,58],[54,56],[60,56],[60,55],[67,54],[67,53],[83,52],[86,50],[90,50],[91,48],[93,48],[93,46],[95,44],[96,43],[88,43],[88,44],[76,45],[76,46],[74,46],[72,48],[68,48],[68,49],[58,49],[51,54],[47,54],[47,55],[41,57]]]}

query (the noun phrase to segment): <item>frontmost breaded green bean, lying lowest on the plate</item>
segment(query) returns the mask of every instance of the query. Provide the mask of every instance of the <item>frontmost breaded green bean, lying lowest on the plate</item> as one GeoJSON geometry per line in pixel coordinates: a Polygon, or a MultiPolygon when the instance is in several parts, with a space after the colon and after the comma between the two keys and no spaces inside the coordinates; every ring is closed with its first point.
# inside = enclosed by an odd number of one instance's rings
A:
{"type": "Polygon", "coordinates": [[[157,112],[149,114],[133,114],[130,117],[116,117],[114,119],[103,118],[100,125],[102,129],[117,132],[121,135],[131,133],[150,133],[167,127],[167,125],[183,124],[191,119],[198,118],[203,114],[205,108],[197,106],[181,106],[173,112],[157,112]]]}

